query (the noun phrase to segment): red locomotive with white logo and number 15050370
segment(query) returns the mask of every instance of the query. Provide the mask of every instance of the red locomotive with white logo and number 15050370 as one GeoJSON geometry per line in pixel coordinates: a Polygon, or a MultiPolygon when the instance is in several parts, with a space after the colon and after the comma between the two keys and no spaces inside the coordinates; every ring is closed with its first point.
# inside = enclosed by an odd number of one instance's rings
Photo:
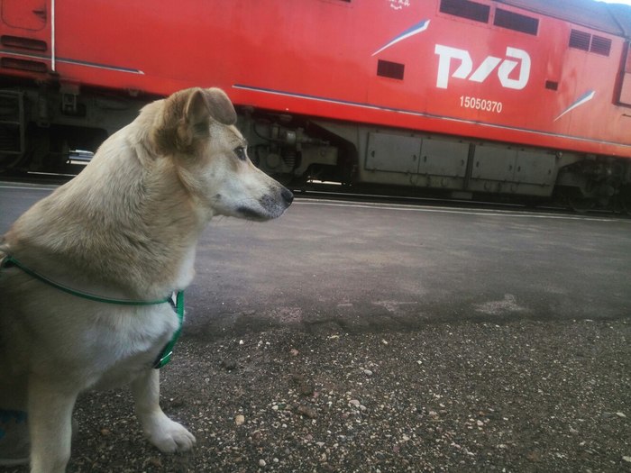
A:
{"type": "Polygon", "coordinates": [[[296,188],[629,212],[630,38],[631,7],[593,0],[2,0],[0,173],[219,86],[296,188]]]}

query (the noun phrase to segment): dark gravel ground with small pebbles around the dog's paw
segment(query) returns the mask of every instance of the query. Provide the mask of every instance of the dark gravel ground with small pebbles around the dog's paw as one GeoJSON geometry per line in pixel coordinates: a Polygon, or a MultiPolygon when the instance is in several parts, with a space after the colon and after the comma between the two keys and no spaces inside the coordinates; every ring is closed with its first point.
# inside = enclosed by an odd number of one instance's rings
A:
{"type": "Polygon", "coordinates": [[[89,393],[69,471],[631,472],[630,329],[619,319],[185,333],[162,370],[162,407],[197,447],[162,454],[127,390],[89,393]]]}

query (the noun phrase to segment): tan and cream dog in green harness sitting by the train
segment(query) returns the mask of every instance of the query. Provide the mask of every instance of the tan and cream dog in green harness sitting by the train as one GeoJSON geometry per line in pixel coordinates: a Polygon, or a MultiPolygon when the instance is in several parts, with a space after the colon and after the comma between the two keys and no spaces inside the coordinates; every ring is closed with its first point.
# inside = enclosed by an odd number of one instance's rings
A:
{"type": "Polygon", "coordinates": [[[65,471],[75,401],[93,387],[131,385],[158,449],[195,444],[159,404],[152,366],[178,331],[166,297],[191,282],[215,215],[265,221],[293,200],[251,163],[236,119],[218,88],[144,106],[0,241],[0,409],[28,414],[32,473],[65,471]]]}

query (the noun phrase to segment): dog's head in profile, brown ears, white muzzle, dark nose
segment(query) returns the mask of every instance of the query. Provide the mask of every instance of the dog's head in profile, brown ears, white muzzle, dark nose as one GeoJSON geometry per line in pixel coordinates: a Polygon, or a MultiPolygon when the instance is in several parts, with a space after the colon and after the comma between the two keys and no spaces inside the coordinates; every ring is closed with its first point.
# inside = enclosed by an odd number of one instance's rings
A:
{"type": "Polygon", "coordinates": [[[268,220],[285,212],[293,194],[251,163],[224,91],[190,88],[161,105],[151,141],[212,214],[268,220]]]}

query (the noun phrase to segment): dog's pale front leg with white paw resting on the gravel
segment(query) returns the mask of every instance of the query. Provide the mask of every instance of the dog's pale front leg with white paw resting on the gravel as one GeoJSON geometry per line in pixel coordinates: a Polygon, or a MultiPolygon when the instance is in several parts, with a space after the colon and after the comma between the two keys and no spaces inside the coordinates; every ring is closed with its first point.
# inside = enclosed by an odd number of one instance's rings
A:
{"type": "Polygon", "coordinates": [[[195,437],[160,409],[160,372],[147,369],[132,383],[136,415],[149,441],[164,452],[186,451],[195,445],[195,437]]]}

